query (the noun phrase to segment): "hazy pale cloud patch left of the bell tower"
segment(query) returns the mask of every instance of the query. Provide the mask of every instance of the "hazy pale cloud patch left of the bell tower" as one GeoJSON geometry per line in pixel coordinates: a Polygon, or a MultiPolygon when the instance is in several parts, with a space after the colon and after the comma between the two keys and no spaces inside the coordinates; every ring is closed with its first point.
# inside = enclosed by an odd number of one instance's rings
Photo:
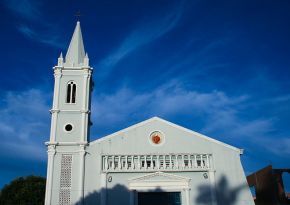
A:
{"type": "Polygon", "coordinates": [[[0,155],[45,160],[43,142],[49,136],[49,98],[49,94],[38,89],[2,96],[0,155]]]}

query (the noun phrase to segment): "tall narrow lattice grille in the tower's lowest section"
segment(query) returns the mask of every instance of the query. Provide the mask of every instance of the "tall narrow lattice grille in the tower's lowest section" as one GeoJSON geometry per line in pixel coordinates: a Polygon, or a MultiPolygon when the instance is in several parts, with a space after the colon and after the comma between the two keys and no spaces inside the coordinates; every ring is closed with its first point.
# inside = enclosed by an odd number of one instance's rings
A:
{"type": "Polygon", "coordinates": [[[72,172],[72,155],[64,154],[61,156],[60,171],[60,192],[59,204],[70,204],[71,173],[72,172]]]}

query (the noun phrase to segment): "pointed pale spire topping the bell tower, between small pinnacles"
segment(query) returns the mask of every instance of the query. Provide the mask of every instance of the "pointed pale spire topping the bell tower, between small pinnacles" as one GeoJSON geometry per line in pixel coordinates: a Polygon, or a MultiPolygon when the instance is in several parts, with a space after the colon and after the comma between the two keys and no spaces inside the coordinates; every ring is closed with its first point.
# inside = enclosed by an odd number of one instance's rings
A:
{"type": "Polygon", "coordinates": [[[81,66],[84,62],[84,58],[85,58],[85,48],[83,43],[82,31],[80,22],[77,21],[74,34],[72,36],[65,56],[65,64],[67,66],[73,67],[81,66]]]}

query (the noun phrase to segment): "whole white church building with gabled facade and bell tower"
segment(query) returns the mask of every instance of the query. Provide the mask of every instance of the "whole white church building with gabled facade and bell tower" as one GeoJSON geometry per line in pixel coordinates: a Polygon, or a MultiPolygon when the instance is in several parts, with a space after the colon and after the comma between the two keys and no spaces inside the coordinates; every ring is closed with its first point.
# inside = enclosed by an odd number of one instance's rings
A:
{"type": "Polygon", "coordinates": [[[254,205],[231,145],[158,117],[90,141],[92,71],[77,22],[54,66],[46,205],[254,205]]]}

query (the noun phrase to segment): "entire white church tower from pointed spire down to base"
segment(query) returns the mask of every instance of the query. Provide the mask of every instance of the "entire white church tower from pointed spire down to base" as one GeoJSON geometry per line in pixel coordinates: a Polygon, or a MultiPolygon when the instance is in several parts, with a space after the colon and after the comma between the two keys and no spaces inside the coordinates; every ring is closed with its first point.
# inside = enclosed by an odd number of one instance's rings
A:
{"type": "Polygon", "coordinates": [[[82,204],[86,146],[89,139],[92,68],[80,22],[65,59],[54,66],[54,95],[48,146],[45,204],[82,204]]]}

